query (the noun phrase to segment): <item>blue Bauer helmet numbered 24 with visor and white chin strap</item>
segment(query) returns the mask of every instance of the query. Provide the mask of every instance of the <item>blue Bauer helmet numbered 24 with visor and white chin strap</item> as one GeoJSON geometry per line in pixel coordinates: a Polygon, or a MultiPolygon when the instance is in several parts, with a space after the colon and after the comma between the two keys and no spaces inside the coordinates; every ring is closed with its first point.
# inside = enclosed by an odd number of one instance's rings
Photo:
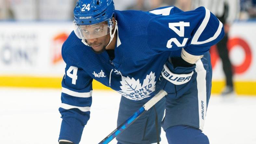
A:
{"type": "MultiPolygon", "coordinates": [[[[78,0],[74,8],[74,32],[85,45],[88,45],[86,39],[99,38],[109,33],[111,42],[114,37],[111,32],[113,16],[115,16],[113,0],[78,0]]],[[[114,33],[115,31],[116,27],[114,33]]]]}

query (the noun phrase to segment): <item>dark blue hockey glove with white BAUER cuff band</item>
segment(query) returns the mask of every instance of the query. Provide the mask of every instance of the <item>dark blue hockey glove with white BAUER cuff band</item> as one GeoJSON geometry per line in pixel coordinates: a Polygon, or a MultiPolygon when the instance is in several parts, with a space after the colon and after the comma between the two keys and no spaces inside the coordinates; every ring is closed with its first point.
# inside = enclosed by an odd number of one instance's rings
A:
{"type": "Polygon", "coordinates": [[[181,57],[169,58],[163,66],[157,89],[165,90],[167,97],[179,98],[191,87],[195,68],[195,64],[187,63],[181,57]]]}

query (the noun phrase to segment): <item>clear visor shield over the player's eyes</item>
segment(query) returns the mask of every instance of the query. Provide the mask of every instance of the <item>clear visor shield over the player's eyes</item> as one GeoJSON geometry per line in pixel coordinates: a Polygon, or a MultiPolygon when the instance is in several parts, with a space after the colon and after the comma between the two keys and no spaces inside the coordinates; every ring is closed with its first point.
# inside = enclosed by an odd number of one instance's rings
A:
{"type": "Polygon", "coordinates": [[[109,34],[110,31],[110,28],[105,21],[93,25],[77,25],[77,23],[73,21],[73,27],[76,36],[83,40],[103,37],[109,34]]]}

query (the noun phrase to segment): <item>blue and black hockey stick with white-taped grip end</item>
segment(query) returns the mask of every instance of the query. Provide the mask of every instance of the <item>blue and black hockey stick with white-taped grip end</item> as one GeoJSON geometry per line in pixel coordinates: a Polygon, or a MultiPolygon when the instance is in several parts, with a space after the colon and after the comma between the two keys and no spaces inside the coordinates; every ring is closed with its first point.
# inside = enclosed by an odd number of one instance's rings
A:
{"type": "Polygon", "coordinates": [[[106,138],[104,138],[99,144],[108,144],[117,135],[122,133],[128,126],[133,124],[136,119],[138,119],[142,114],[159,102],[165,95],[166,91],[160,90],[152,99],[145,103],[139,110],[137,110],[132,116],[130,116],[122,125],[118,126],[114,131],[112,131],[106,138]]]}

